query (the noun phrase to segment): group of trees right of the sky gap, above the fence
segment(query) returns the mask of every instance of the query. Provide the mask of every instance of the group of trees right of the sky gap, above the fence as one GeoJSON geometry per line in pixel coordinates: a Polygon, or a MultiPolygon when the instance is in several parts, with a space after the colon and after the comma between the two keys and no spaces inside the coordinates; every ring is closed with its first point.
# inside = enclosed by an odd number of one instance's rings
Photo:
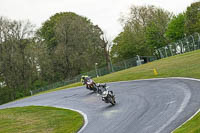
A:
{"type": "Polygon", "coordinates": [[[178,15],[155,6],[133,5],[120,22],[123,31],[113,40],[112,60],[152,56],[155,49],[200,32],[200,2],[192,3],[178,15]]]}

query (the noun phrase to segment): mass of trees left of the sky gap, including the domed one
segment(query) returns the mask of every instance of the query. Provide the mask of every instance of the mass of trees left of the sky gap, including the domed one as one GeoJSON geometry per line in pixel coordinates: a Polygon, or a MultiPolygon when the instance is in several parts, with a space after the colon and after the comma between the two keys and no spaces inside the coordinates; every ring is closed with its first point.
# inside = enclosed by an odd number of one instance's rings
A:
{"type": "Polygon", "coordinates": [[[30,95],[108,63],[103,31],[72,12],[57,13],[39,29],[0,17],[0,104],[30,95]]]}

